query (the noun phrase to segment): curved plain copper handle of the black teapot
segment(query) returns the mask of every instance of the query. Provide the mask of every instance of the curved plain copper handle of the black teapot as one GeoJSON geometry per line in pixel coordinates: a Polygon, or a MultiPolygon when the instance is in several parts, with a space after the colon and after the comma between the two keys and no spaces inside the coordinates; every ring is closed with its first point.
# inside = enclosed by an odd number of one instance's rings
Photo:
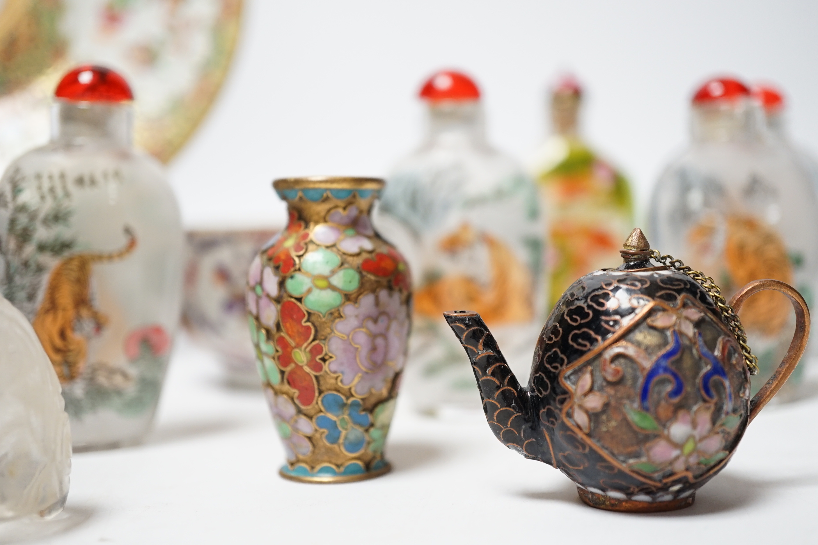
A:
{"type": "Polygon", "coordinates": [[[781,389],[781,386],[784,386],[784,382],[787,382],[789,375],[793,373],[795,366],[798,365],[798,361],[801,360],[801,356],[807,348],[807,340],[809,340],[810,335],[810,310],[807,308],[807,302],[804,301],[804,298],[801,297],[801,293],[798,293],[795,288],[780,280],[753,280],[753,282],[745,285],[744,288],[739,289],[738,293],[730,299],[730,306],[732,306],[735,313],[738,314],[739,309],[744,302],[747,301],[748,297],[755,293],[762,292],[765,289],[774,289],[776,292],[784,293],[784,295],[789,298],[789,301],[793,303],[793,309],[795,310],[795,334],[793,335],[793,340],[789,343],[787,354],[784,355],[784,360],[781,360],[778,369],[775,369],[775,373],[772,373],[770,380],[753,396],[753,400],[750,400],[750,418],[748,423],[753,422],[753,418],[756,418],[756,415],[764,408],[764,405],[781,389]]]}

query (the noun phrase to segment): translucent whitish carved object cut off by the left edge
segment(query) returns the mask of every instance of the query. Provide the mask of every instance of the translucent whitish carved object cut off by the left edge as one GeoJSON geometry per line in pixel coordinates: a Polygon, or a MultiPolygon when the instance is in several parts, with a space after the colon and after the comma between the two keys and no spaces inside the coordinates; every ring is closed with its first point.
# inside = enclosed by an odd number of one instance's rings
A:
{"type": "Polygon", "coordinates": [[[71,472],[64,404],[34,328],[0,296],[0,520],[62,511],[71,472]]]}

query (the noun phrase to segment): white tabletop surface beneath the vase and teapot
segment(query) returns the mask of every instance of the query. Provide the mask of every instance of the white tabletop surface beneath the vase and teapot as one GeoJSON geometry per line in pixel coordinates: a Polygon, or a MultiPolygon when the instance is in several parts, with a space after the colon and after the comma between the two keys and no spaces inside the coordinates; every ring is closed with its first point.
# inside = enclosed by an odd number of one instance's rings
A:
{"type": "Polygon", "coordinates": [[[388,475],[283,480],[261,392],[219,377],[182,338],[149,440],[75,454],[65,511],[0,525],[0,543],[818,543],[818,395],[765,409],[693,507],[630,515],[582,504],[559,471],[495,440],[479,411],[438,420],[407,399],[388,475]]]}

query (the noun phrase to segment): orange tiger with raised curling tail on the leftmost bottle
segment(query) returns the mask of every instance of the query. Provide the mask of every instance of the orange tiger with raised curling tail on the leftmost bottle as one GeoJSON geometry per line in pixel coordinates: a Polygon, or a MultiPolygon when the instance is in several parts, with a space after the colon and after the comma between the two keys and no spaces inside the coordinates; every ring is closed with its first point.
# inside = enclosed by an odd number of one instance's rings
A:
{"type": "Polygon", "coordinates": [[[108,324],[108,317],[91,302],[91,266],[127,257],[137,247],[137,237],[124,228],[128,243],[115,252],[85,252],[66,257],[52,270],[43,302],[32,325],[51,359],[60,382],[79,377],[85,366],[88,341],[75,331],[77,320],[92,320],[97,333],[108,324]]]}

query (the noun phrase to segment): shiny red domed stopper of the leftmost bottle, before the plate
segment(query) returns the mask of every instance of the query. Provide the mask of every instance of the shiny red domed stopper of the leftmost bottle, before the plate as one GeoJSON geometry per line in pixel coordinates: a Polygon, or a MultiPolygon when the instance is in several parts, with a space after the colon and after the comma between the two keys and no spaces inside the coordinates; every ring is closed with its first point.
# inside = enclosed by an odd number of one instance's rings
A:
{"type": "Polygon", "coordinates": [[[76,102],[133,101],[131,87],[114,70],[102,66],[78,66],[62,78],[56,98],[76,102]]]}

